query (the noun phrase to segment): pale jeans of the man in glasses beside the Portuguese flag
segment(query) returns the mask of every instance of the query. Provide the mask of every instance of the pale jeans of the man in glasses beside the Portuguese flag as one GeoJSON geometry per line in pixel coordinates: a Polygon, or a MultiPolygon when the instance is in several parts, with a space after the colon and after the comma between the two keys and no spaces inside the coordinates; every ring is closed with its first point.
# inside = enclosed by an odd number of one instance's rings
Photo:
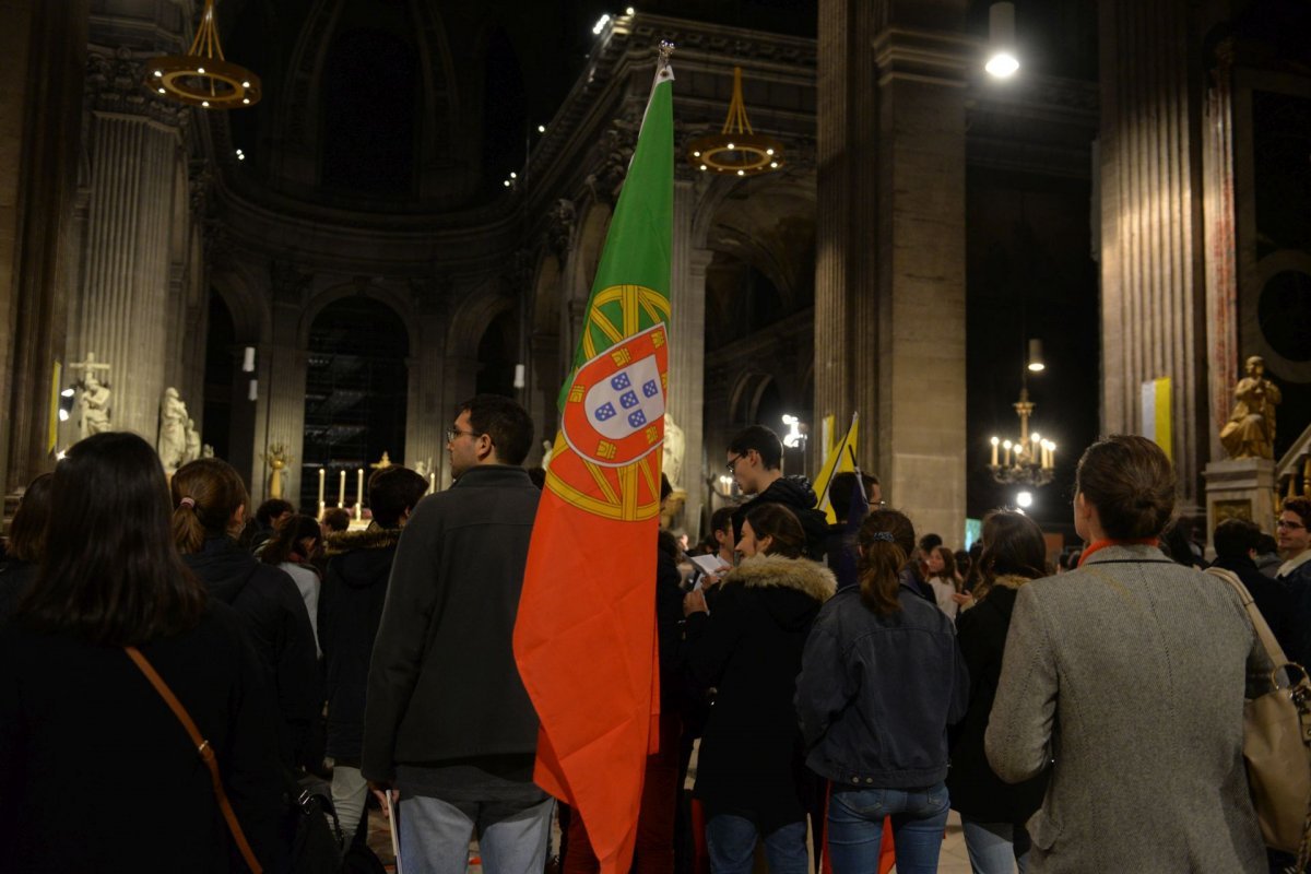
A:
{"type": "Polygon", "coordinates": [[[405,874],[464,874],[475,831],[488,874],[540,874],[555,805],[555,798],[524,807],[401,795],[397,816],[405,874]]]}

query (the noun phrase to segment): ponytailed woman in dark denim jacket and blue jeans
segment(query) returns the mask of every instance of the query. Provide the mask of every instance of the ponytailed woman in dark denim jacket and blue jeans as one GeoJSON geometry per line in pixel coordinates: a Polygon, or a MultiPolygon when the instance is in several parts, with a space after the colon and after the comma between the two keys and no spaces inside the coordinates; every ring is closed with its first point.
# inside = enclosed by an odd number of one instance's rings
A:
{"type": "Polygon", "coordinates": [[[910,519],[876,510],[856,542],[860,586],[819,611],[797,677],[806,764],[832,782],[835,874],[878,870],[889,816],[897,870],[926,874],[937,870],[950,808],[947,726],[965,713],[969,676],[952,620],[902,573],[910,519]]]}

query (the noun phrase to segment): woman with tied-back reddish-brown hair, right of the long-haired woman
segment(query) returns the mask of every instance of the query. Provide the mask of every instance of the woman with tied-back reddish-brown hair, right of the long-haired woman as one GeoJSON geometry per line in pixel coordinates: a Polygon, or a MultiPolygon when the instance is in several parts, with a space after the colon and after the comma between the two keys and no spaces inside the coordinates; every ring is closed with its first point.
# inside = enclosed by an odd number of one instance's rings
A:
{"type": "Polygon", "coordinates": [[[197,459],[172,482],[173,541],[210,595],[245,620],[278,698],[283,761],[302,764],[313,719],[323,710],[323,680],[309,612],[286,573],[241,549],[246,490],[231,464],[197,459]]]}

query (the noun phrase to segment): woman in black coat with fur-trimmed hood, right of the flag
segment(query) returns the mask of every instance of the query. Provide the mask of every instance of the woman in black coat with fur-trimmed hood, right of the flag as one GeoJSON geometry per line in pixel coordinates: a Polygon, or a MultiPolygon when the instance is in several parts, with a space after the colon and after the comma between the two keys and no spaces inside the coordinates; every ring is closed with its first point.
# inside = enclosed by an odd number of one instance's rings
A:
{"type": "Polygon", "coordinates": [[[701,736],[694,794],[705,807],[714,874],[751,870],[759,840],[775,874],[806,874],[806,797],[792,698],[801,649],[838,583],[806,558],[806,533],[783,504],[747,514],[742,563],[718,584],[707,615],[688,592],[690,667],[716,689],[701,736]]]}

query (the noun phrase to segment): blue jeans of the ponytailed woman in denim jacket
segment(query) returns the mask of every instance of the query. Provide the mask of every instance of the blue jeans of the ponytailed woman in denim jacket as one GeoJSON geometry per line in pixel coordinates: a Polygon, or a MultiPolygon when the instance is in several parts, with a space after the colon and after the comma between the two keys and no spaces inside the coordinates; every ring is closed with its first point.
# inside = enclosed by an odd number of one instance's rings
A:
{"type": "Polygon", "coordinates": [[[950,806],[945,784],[927,789],[835,786],[829,799],[829,858],[834,874],[878,870],[885,816],[893,818],[897,874],[935,874],[950,806]]]}

